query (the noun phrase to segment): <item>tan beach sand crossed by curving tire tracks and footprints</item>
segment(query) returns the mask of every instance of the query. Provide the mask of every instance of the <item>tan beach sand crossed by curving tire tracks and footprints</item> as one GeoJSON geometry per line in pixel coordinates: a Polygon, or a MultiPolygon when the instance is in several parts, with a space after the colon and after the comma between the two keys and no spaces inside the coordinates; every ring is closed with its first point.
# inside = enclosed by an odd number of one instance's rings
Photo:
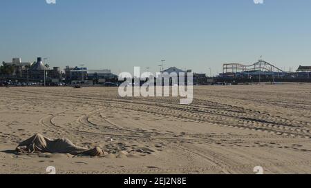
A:
{"type": "Polygon", "coordinates": [[[311,173],[311,85],[196,86],[178,98],[120,98],[117,87],[1,87],[0,173],[311,173]],[[104,148],[100,157],[16,154],[39,133],[104,148]]]}

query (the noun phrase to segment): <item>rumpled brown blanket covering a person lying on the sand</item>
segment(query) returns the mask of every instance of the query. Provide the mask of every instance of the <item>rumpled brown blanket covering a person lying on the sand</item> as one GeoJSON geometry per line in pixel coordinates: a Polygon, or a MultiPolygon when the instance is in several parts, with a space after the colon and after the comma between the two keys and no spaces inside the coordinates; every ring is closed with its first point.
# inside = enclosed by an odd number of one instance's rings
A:
{"type": "Polygon", "coordinates": [[[88,156],[102,156],[104,154],[100,147],[87,149],[74,145],[67,138],[51,140],[41,134],[35,134],[31,138],[21,142],[15,150],[19,153],[59,153],[88,156]]]}

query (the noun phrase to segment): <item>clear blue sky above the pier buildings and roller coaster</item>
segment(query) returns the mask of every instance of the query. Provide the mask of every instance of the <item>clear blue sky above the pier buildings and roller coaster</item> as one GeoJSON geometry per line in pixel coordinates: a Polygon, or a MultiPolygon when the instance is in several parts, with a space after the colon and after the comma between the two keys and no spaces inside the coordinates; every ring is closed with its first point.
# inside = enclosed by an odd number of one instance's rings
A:
{"type": "Polygon", "coordinates": [[[263,55],[281,68],[311,65],[311,1],[1,0],[0,61],[133,72],[176,66],[222,71],[263,55]]]}

